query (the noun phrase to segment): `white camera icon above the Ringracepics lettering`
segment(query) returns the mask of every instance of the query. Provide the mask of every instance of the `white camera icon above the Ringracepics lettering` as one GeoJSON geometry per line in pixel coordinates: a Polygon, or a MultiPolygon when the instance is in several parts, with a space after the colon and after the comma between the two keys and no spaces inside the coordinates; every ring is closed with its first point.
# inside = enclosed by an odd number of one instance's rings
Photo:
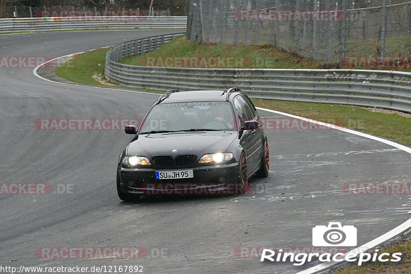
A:
{"type": "Polygon", "coordinates": [[[357,246],[357,228],[329,223],[312,229],[313,246],[357,246]]]}

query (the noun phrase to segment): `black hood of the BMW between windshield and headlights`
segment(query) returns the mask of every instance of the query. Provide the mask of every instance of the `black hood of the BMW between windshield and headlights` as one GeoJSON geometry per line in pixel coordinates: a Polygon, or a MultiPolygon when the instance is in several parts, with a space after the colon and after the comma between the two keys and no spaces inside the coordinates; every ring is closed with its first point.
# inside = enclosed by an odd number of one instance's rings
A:
{"type": "Polygon", "coordinates": [[[226,152],[230,144],[238,137],[238,132],[182,132],[139,135],[137,140],[128,144],[126,155],[200,155],[214,152],[226,152]],[[177,150],[177,152],[172,152],[177,150]]]}

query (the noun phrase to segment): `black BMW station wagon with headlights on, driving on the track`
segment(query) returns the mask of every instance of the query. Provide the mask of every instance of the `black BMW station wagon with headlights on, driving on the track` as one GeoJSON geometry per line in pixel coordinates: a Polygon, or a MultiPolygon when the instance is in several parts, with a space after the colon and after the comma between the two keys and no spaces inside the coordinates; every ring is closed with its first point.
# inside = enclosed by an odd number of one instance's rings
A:
{"type": "Polygon", "coordinates": [[[130,201],[150,194],[238,194],[270,167],[258,113],[239,88],[170,90],[152,105],[120,154],[117,191],[130,201]]]}

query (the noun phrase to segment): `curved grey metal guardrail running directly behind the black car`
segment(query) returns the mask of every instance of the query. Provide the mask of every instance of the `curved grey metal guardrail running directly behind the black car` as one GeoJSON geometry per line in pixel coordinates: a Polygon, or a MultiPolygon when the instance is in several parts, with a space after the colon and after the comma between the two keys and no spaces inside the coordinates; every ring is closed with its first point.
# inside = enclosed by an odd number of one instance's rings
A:
{"type": "Polygon", "coordinates": [[[110,49],[105,77],[128,87],[193,90],[237,86],[252,98],[381,107],[411,113],[409,72],[145,67],[120,63],[123,58],[152,51],[172,38],[172,35],[154,36],[110,49]]]}

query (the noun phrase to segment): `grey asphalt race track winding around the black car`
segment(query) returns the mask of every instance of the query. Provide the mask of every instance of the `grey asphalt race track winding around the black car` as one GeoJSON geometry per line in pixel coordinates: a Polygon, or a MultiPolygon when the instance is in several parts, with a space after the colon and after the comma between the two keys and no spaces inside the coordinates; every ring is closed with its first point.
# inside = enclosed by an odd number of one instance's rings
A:
{"type": "MultiPolygon", "coordinates": [[[[176,31],[0,35],[0,56],[55,58],[171,32],[176,31]]],[[[249,194],[150,196],[127,204],[117,197],[115,175],[118,154],[130,136],[123,131],[34,127],[36,119],[45,118],[143,118],[156,98],[51,83],[36,78],[32,68],[0,68],[0,182],[47,183],[62,192],[0,195],[0,265],[141,265],[145,273],[295,273],[313,264],[261,263],[246,258],[250,254],[244,247],[309,247],[311,229],[328,222],[356,226],[360,246],[410,217],[411,196],[346,195],[342,186],[411,182],[411,155],[337,130],[267,130],[270,176],[251,179],[249,194]],[[140,247],[147,255],[42,258],[41,251],[50,247],[140,247]]]]}

